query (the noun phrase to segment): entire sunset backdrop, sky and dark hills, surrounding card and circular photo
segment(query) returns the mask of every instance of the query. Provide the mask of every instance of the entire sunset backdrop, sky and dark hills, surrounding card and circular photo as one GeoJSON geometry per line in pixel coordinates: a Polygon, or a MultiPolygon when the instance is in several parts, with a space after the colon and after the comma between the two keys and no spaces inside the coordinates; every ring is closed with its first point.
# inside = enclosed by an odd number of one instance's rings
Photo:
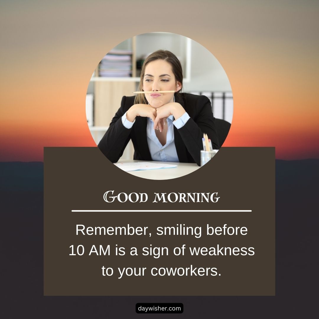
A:
{"type": "Polygon", "coordinates": [[[315,0],[1,1],[0,317],[139,318],[137,302],[182,302],[183,318],[312,318],[318,13],[315,0]],[[154,31],[199,42],[223,66],[234,95],[224,146],[276,146],[275,297],[43,296],[43,163],[29,161],[42,161],[44,146],[95,146],[85,116],[94,68],[154,31]]]}

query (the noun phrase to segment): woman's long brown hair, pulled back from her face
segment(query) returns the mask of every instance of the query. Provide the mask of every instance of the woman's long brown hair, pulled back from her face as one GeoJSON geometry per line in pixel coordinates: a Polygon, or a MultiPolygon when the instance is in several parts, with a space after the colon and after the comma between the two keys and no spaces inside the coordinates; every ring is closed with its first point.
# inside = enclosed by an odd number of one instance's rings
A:
{"type": "MultiPolygon", "coordinates": [[[[145,67],[148,63],[156,60],[164,60],[167,61],[171,66],[172,66],[172,71],[175,76],[175,81],[178,81],[181,83],[183,86],[183,70],[182,70],[182,65],[181,62],[178,60],[178,58],[174,55],[174,53],[167,51],[167,50],[157,50],[150,54],[145,61],[143,62],[142,65],[142,71],[141,71],[141,79],[140,83],[138,85],[137,91],[144,91],[142,89],[143,87],[143,79],[145,75],[145,67]]],[[[178,93],[180,93],[180,90],[178,90],[178,93]]],[[[145,98],[145,94],[136,94],[134,104],[147,104],[147,100],[145,98]]]]}

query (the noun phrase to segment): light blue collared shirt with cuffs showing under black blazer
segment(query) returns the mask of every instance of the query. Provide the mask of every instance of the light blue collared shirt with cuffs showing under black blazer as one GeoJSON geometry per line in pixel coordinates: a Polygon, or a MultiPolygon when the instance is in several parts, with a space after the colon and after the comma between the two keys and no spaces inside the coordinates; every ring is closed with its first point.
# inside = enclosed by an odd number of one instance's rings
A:
{"type": "MultiPolygon", "coordinates": [[[[163,162],[179,162],[176,147],[174,144],[174,126],[177,129],[180,129],[185,125],[185,123],[189,120],[189,115],[185,112],[181,117],[174,121],[174,116],[170,115],[167,118],[167,135],[166,135],[166,144],[163,146],[160,144],[159,139],[155,134],[154,122],[147,118],[147,127],[146,127],[146,135],[147,135],[147,144],[151,153],[152,160],[163,161],[163,162]],[[173,126],[174,125],[174,126],[173,126]]],[[[122,116],[122,123],[124,127],[130,129],[135,120],[130,122],[126,118],[126,112],[122,116]]]]}

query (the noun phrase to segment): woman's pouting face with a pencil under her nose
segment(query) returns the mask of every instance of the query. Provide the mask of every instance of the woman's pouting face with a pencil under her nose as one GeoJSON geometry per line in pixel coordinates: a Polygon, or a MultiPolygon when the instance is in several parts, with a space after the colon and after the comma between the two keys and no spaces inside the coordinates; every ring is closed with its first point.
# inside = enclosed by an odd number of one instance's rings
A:
{"type": "Polygon", "coordinates": [[[181,84],[176,83],[170,63],[164,60],[155,60],[145,67],[143,90],[153,91],[145,93],[147,102],[154,108],[174,102],[174,93],[156,93],[156,91],[174,91],[181,89],[181,84]]]}

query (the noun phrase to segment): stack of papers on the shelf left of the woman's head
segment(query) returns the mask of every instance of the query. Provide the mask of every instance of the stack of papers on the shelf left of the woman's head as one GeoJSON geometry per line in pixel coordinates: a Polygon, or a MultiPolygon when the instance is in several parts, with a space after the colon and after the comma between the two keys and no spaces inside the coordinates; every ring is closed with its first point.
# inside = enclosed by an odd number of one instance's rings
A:
{"type": "Polygon", "coordinates": [[[113,49],[100,62],[100,77],[132,76],[132,50],[113,49]]]}

